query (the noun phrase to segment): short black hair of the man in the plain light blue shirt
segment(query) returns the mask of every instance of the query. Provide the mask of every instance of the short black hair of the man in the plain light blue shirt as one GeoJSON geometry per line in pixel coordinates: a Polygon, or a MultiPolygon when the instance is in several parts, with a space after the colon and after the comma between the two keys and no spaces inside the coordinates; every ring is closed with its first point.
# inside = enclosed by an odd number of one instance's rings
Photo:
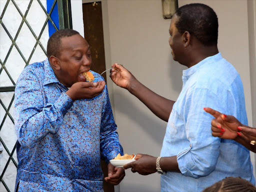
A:
{"type": "Polygon", "coordinates": [[[175,26],[179,33],[188,31],[204,46],[217,44],[218,18],[211,7],[202,3],[191,3],[179,7],[175,14],[175,26]]]}

